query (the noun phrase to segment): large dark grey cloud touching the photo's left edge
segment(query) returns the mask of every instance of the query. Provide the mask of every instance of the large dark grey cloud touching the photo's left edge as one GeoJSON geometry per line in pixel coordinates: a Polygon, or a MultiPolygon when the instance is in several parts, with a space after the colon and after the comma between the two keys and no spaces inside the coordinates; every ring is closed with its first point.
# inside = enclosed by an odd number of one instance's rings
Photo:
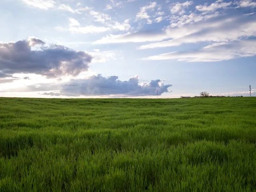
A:
{"type": "Polygon", "coordinates": [[[0,43],[0,71],[3,74],[34,73],[51,77],[76,76],[88,70],[92,56],[65,46],[45,45],[32,38],[17,42],[0,43]]]}

